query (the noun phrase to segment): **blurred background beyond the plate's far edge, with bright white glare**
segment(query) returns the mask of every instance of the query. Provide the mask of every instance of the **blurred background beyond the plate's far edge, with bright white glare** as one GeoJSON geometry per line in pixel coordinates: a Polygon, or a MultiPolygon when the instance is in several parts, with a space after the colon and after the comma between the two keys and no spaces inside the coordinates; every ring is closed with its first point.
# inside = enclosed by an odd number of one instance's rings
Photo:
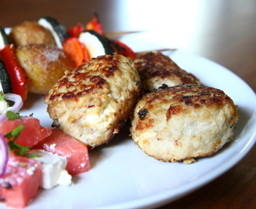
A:
{"type": "Polygon", "coordinates": [[[143,31],[137,39],[209,58],[255,91],[254,70],[244,72],[256,62],[251,53],[256,47],[255,11],[254,0],[9,0],[0,2],[0,25],[53,15],[69,27],[87,23],[97,12],[105,33],[143,31]]]}

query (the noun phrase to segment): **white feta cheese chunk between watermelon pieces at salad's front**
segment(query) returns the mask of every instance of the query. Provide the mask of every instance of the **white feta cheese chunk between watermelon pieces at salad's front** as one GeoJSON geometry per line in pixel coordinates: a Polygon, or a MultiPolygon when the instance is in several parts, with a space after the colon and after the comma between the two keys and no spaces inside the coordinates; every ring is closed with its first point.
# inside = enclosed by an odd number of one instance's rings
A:
{"type": "Polygon", "coordinates": [[[29,151],[29,155],[37,155],[36,160],[42,164],[42,180],[40,187],[51,189],[57,185],[69,186],[72,183],[72,176],[65,170],[67,159],[51,152],[41,149],[29,151]]]}

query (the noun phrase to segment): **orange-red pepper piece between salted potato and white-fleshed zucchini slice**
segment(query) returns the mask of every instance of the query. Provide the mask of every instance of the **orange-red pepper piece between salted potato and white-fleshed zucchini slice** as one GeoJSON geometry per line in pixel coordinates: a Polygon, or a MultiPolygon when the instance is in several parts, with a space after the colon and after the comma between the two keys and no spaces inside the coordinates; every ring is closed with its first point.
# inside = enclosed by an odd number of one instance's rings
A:
{"type": "Polygon", "coordinates": [[[63,50],[68,57],[74,60],[75,66],[78,67],[81,63],[89,61],[88,52],[85,46],[76,37],[64,39],[63,50]]]}

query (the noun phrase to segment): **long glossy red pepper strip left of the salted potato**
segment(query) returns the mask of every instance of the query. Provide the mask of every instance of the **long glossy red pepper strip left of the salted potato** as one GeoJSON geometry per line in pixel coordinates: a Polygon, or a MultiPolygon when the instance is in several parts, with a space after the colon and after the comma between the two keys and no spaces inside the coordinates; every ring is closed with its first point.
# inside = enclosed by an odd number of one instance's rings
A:
{"type": "Polygon", "coordinates": [[[0,51],[0,56],[12,81],[12,93],[19,94],[25,101],[28,93],[27,77],[17,63],[13,50],[13,45],[8,44],[0,51]]]}

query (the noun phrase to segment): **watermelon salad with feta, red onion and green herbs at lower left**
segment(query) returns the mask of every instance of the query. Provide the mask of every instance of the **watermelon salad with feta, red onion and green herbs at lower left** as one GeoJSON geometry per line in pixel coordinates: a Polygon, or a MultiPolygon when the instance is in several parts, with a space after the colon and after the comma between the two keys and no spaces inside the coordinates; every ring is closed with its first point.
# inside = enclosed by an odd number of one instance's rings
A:
{"type": "Polygon", "coordinates": [[[0,92],[0,201],[23,208],[39,188],[67,187],[90,169],[87,147],[60,128],[43,128],[33,115],[20,116],[22,98],[0,92]]]}

